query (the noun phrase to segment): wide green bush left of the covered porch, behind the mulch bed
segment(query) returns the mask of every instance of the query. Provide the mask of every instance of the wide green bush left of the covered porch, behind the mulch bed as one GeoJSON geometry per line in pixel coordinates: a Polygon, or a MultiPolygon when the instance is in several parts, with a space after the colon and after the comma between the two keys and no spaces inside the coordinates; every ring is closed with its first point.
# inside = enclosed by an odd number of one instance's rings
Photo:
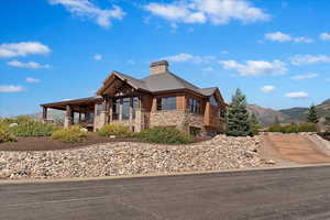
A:
{"type": "Polygon", "coordinates": [[[57,129],[55,124],[28,120],[9,128],[9,132],[15,136],[50,136],[57,129]]]}

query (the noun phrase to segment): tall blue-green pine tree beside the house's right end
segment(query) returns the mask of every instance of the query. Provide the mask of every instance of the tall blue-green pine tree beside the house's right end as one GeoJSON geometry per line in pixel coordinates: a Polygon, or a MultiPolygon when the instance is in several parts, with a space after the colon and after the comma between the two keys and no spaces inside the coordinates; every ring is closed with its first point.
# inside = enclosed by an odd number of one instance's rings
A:
{"type": "Polygon", "coordinates": [[[231,136],[246,136],[250,128],[246,98],[240,89],[237,89],[228,108],[226,133],[231,136]]]}

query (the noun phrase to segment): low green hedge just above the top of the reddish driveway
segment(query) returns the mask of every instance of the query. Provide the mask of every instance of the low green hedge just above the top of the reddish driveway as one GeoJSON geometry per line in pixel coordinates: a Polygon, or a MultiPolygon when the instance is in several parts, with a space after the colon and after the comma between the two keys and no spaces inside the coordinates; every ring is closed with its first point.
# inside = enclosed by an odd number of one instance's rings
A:
{"type": "Polygon", "coordinates": [[[317,132],[317,125],[312,123],[302,123],[302,124],[289,124],[289,125],[279,125],[275,124],[270,127],[270,132],[280,132],[280,133],[298,133],[298,132],[317,132]]]}

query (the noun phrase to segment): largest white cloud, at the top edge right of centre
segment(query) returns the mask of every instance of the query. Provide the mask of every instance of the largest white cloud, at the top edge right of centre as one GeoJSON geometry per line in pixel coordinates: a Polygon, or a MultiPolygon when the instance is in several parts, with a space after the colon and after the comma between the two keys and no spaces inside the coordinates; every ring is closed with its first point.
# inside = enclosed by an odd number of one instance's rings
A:
{"type": "Polygon", "coordinates": [[[187,0],[170,3],[148,3],[145,10],[172,22],[228,24],[266,21],[270,15],[248,0],[187,0]]]}

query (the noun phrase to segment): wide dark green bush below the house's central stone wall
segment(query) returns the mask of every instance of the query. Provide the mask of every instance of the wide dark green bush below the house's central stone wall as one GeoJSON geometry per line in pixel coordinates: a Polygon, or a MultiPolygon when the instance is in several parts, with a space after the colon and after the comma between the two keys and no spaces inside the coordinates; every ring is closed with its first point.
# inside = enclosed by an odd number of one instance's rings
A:
{"type": "Polygon", "coordinates": [[[188,144],[194,142],[194,138],[188,133],[180,132],[175,128],[165,127],[146,129],[138,134],[134,134],[134,136],[150,143],[188,144]]]}

